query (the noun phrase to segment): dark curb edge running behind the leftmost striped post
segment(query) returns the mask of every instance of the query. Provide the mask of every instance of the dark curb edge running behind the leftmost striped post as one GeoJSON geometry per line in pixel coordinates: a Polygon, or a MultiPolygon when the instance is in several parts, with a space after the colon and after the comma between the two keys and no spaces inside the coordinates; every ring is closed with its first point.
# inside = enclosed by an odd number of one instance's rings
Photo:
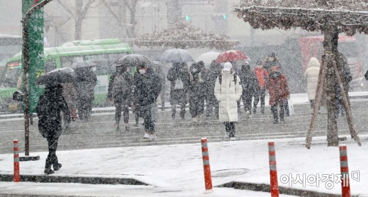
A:
{"type": "MultiPolygon", "coordinates": [[[[0,174],[0,182],[12,182],[12,174],[0,174]]],[[[71,176],[48,176],[48,175],[21,175],[21,182],[38,183],[82,183],[93,185],[146,185],[133,178],[102,178],[102,177],[71,177],[71,176]]]]}

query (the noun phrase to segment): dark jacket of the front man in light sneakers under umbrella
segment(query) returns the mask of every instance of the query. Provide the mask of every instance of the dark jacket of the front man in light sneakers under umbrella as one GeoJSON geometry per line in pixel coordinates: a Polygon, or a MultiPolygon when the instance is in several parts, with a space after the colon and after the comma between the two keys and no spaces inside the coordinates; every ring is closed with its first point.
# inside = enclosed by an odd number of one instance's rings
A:
{"type": "Polygon", "coordinates": [[[147,106],[156,102],[161,92],[161,79],[151,68],[145,74],[137,72],[134,75],[134,97],[136,104],[147,106]]]}

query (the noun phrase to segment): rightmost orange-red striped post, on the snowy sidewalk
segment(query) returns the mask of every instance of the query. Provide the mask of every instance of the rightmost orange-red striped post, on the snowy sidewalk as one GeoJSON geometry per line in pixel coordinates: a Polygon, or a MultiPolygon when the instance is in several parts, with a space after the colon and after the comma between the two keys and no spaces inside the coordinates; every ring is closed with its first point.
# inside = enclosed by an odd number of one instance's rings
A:
{"type": "Polygon", "coordinates": [[[348,154],[346,145],[340,146],[341,197],[350,197],[348,154]]]}

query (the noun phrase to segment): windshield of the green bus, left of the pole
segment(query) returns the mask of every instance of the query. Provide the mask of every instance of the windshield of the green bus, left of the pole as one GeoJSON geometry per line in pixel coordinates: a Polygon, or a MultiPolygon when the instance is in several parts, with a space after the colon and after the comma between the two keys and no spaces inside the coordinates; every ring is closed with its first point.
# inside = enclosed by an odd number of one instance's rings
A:
{"type": "Polygon", "coordinates": [[[21,76],[21,64],[18,62],[10,63],[6,66],[4,74],[1,76],[1,88],[16,87],[21,76]]]}

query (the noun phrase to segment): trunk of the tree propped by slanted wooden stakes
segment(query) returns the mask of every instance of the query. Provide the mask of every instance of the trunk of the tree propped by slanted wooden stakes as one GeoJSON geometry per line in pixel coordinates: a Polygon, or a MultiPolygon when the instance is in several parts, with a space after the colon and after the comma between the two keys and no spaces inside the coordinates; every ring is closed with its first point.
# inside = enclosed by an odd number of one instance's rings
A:
{"type": "Polygon", "coordinates": [[[326,85],[325,93],[326,104],[327,104],[327,146],[338,146],[338,136],[337,136],[337,122],[336,122],[336,78],[334,75],[332,61],[335,59],[335,53],[337,51],[337,40],[338,31],[337,27],[333,24],[327,22],[327,28],[325,29],[325,40],[324,48],[325,55],[324,61],[327,62],[327,75],[326,75],[326,85]]]}

